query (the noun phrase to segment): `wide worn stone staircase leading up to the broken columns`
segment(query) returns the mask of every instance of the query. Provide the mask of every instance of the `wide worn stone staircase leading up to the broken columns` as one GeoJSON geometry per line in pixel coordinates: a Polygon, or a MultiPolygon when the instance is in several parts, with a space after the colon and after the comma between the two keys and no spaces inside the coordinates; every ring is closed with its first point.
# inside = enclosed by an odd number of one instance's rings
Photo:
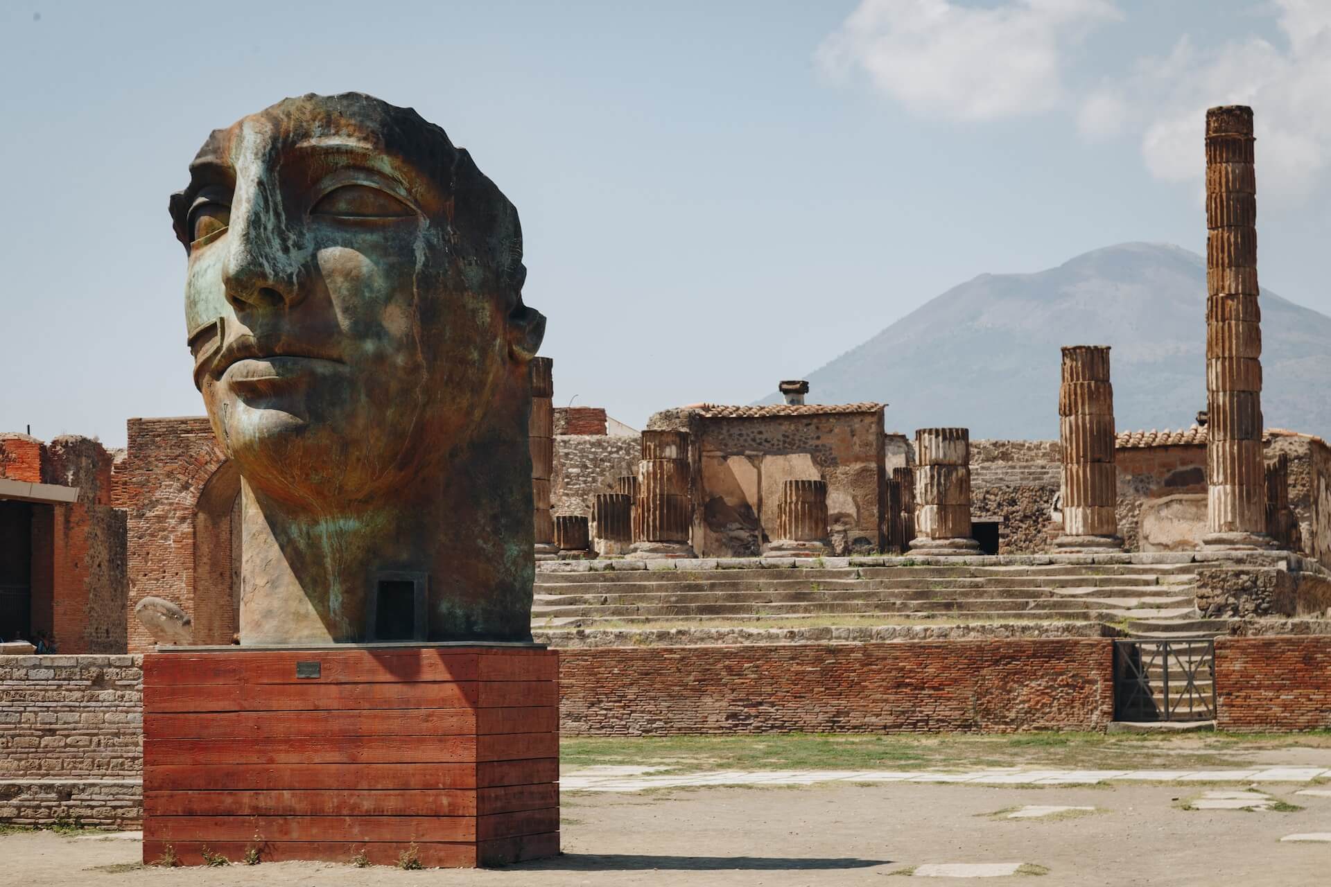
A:
{"type": "Polygon", "coordinates": [[[1194,604],[1186,557],[1134,563],[1117,556],[736,559],[676,563],[542,564],[536,629],[679,625],[817,625],[852,618],[890,624],[1082,621],[1142,637],[1226,630],[1194,604]],[[1017,561],[1017,563],[1013,563],[1017,561]],[[1037,563],[1042,561],[1042,563],[1037,563]],[[1099,563],[1098,563],[1099,561],[1099,563]]]}

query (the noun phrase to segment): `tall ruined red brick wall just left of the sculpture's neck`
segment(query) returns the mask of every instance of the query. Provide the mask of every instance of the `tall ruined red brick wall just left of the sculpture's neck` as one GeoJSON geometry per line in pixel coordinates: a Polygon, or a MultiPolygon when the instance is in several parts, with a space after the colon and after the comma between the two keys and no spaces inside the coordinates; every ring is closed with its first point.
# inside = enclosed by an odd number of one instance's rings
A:
{"type": "MultiPolygon", "coordinates": [[[[208,520],[206,508],[204,520],[197,513],[205,485],[225,461],[213,430],[205,418],[130,419],[126,426],[129,448],[125,459],[117,463],[114,476],[116,504],[126,512],[129,609],[146,596],[162,597],[205,629],[212,624],[222,625],[217,637],[208,637],[196,628],[196,642],[225,644],[230,640],[225,621],[196,612],[197,602],[208,610],[220,606],[218,598],[230,606],[232,597],[229,588],[213,588],[213,584],[205,584],[205,593],[196,596],[196,523],[208,528],[206,532],[225,532],[228,545],[230,535],[229,520],[208,520]]],[[[218,483],[229,481],[224,477],[218,483]]],[[[218,495],[216,499],[226,497],[218,495]]],[[[229,501],[225,512],[230,513],[229,501]]],[[[200,548],[208,564],[220,563],[214,556],[217,545],[220,543],[213,540],[200,548]]],[[[156,644],[133,617],[128,633],[130,652],[148,650],[156,644]]]]}

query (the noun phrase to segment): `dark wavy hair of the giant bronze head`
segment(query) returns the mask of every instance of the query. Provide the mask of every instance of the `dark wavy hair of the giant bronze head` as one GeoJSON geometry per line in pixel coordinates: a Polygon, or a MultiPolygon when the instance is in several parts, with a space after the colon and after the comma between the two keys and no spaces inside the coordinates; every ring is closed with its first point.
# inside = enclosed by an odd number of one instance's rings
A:
{"type": "MultiPolygon", "coordinates": [[[[381,141],[383,150],[409,161],[430,176],[450,197],[450,246],[455,261],[483,273],[494,269],[498,279],[487,283],[504,302],[507,313],[522,306],[522,286],[527,269],[522,263],[522,223],[518,209],[471,160],[466,149],[454,146],[447,133],[422,118],[411,108],[398,108],[365,93],[284,98],[261,110],[278,128],[299,121],[314,132],[330,132],[339,121],[354,121],[365,133],[381,141]]],[[[217,154],[229,130],[213,130],[198,156],[217,154]]],[[[197,184],[170,195],[170,215],[176,238],[189,250],[189,209],[197,184]]]]}

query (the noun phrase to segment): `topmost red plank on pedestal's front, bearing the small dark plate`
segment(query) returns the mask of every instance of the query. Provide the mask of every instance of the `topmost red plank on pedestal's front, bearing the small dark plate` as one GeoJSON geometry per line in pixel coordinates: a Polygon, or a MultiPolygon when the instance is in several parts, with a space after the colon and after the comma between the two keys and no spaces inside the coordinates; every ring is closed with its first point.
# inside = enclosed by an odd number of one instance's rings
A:
{"type": "MultiPolygon", "coordinates": [[[[520,666],[519,666],[520,668],[520,666]]],[[[226,650],[144,657],[144,684],[413,684],[475,681],[475,653],[442,649],[226,650]],[[297,662],[318,662],[318,678],[295,677],[297,662]]]]}

